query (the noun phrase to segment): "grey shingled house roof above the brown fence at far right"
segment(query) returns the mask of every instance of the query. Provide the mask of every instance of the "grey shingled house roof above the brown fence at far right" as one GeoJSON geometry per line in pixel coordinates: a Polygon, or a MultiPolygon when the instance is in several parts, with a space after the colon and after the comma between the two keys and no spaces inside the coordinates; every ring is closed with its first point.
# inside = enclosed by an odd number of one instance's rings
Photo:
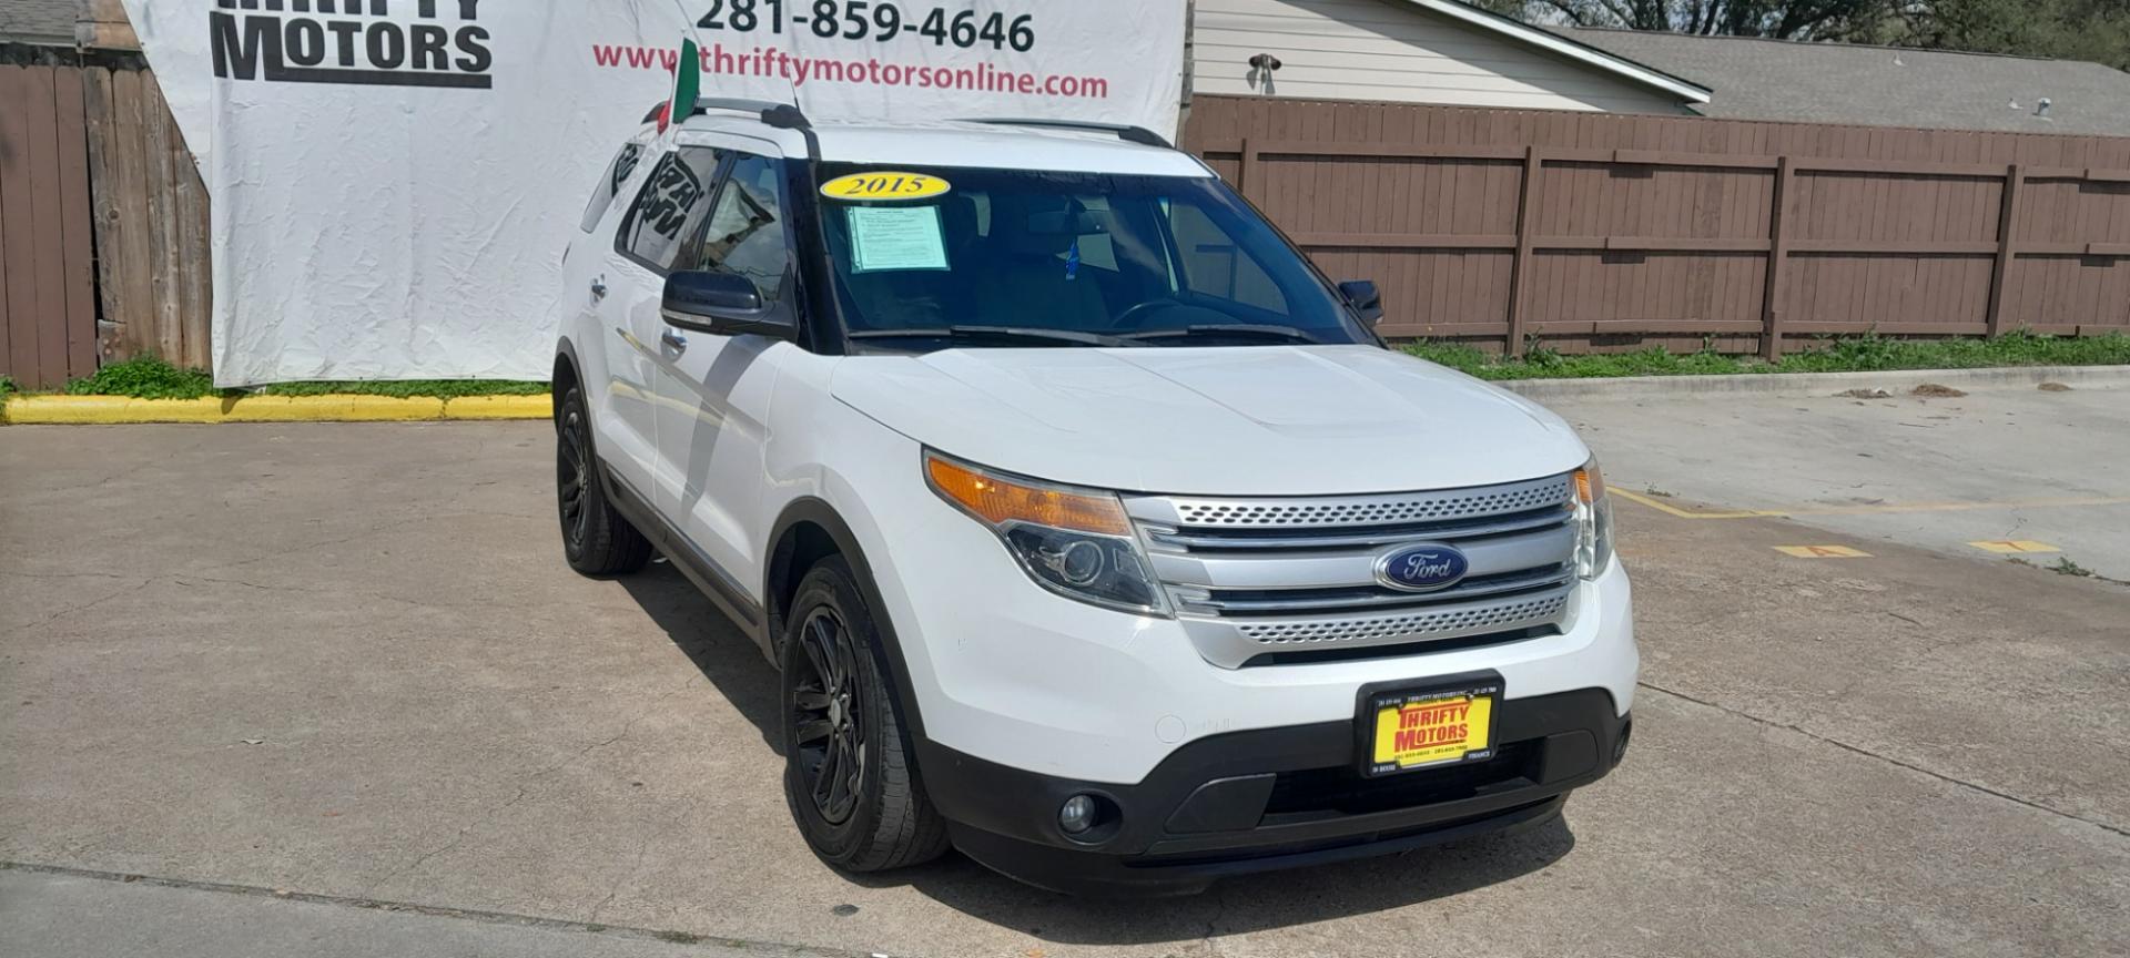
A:
{"type": "Polygon", "coordinates": [[[1908,47],[1555,28],[1715,89],[1727,119],[2130,136],[2130,72],[1908,47]],[[2041,113],[2041,100],[2049,100],[2041,113]]]}

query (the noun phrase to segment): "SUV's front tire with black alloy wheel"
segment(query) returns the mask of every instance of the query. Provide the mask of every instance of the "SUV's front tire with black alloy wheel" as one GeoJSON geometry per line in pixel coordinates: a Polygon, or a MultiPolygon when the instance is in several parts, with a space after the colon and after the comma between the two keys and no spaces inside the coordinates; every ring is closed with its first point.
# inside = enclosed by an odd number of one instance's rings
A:
{"type": "Polygon", "coordinates": [[[841,556],[807,571],[786,622],[784,800],[807,845],[861,873],[946,854],[946,820],[918,783],[880,632],[841,556]]]}

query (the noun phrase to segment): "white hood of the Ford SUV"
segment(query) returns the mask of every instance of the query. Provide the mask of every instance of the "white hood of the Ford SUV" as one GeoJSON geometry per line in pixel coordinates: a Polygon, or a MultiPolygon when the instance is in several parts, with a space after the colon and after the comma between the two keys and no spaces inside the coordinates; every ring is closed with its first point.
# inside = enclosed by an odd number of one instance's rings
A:
{"type": "Polygon", "coordinates": [[[858,356],[833,392],[948,456],[1125,492],[1446,490],[1589,458],[1557,415],[1365,345],[858,356]]]}

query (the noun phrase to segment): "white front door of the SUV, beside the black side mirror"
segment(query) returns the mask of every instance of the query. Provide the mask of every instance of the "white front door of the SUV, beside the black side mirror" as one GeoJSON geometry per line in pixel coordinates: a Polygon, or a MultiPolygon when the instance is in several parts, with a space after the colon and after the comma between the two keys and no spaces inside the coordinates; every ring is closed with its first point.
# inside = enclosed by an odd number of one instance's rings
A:
{"type": "MultiPolygon", "coordinates": [[[[771,311],[799,296],[786,224],[786,170],[760,141],[735,149],[701,234],[675,268],[748,277],[771,311]]],[[[752,528],[767,481],[765,443],[777,362],[797,345],[767,336],[669,330],[658,351],[658,511],[679,526],[728,590],[760,581],[765,530],[752,528]]],[[[739,602],[746,607],[746,602],[739,602]]]]}

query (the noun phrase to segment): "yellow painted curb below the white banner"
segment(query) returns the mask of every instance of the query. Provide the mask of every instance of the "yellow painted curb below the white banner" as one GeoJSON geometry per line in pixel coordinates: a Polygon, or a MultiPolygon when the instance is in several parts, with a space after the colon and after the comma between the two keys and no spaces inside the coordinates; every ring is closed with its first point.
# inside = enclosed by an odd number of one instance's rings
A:
{"type": "Polygon", "coordinates": [[[241,396],[200,400],[138,400],[126,396],[11,396],[0,422],[13,426],[119,426],[162,422],[435,422],[435,419],[545,419],[547,396],[241,396]]]}

